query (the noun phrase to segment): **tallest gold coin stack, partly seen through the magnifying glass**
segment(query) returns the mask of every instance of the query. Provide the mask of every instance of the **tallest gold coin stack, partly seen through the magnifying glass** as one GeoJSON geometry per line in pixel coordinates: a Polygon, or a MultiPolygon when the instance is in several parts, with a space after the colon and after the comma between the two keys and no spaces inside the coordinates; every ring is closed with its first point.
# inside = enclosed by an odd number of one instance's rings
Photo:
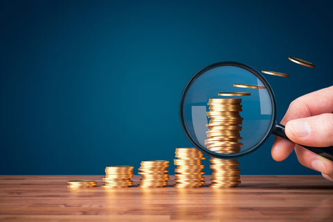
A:
{"type": "MultiPolygon", "coordinates": [[[[216,153],[238,153],[243,144],[240,131],[243,118],[241,112],[241,99],[210,99],[208,105],[210,112],[207,117],[210,123],[206,132],[205,145],[216,153]]],[[[221,160],[210,158],[212,173],[212,184],[210,187],[236,187],[241,182],[237,160],[221,160]]]]}

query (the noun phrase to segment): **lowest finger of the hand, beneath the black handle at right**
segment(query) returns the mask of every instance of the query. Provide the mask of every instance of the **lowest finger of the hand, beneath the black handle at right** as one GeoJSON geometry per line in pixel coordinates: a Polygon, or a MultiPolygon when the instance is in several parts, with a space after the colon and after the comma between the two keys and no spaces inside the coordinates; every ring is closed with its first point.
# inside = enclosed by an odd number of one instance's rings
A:
{"type": "Polygon", "coordinates": [[[299,145],[296,145],[295,152],[298,161],[303,166],[325,174],[327,179],[330,178],[330,176],[333,176],[333,162],[331,160],[321,157],[320,155],[317,155],[316,153],[313,153],[299,145]]]}

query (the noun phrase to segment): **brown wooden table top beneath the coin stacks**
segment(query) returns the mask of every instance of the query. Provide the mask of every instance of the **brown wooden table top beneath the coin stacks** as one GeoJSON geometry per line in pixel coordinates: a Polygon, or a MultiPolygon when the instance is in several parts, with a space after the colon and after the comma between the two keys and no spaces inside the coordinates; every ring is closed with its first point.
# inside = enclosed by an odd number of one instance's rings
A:
{"type": "Polygon", "coordinates": [[[102,177],[0,176],[0,221],[333,221],[321,176],[241,176],[228,189],[177,189],[174,176],[164,188],[103,189],[102,177]],[[67,188],[80,179],[98,187],[67,188]]]}

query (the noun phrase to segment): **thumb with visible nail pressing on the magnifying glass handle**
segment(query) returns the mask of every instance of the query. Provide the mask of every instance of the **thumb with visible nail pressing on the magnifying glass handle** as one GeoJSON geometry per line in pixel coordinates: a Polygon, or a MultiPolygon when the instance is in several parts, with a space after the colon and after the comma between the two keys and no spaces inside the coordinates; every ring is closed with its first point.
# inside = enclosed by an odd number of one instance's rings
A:
{"type": "Polygon", "coordinates": [[[291,141],[305,146],[333,145],[333,114],[293,119],[286,124],[285,133],[291,141]]]}

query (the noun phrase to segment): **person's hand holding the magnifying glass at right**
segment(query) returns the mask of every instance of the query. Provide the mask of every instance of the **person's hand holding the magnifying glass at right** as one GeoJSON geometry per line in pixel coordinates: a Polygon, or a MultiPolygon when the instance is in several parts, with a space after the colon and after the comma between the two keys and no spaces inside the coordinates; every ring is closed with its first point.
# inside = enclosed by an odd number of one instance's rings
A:
{"type": "Polygon", "coordinates": [[[293,101],[281,123],[292,142],[275,137],[272,157],[286,159],[295,149],[298,161],[305,167],[321,172],[333,181],[333,161],[296,145],[325,147],[333,145],[333,86],[311,92],[293,101]],[[294,142],[294,143],[293,143],[294,142]]]}

